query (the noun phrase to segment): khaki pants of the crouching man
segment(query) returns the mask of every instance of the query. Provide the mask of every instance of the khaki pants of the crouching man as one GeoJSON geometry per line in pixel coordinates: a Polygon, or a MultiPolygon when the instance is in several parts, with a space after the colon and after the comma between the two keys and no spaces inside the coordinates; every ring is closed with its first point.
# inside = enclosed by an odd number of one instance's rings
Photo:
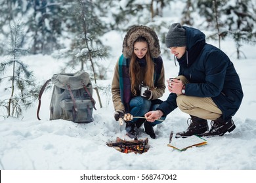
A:
{"type": "MultiPolygon", "coordinates": [[[[184,76],[177,76],[177,78],[181,78],[183,84],[188,84],[188,80],[184,76]]],[[[176,100],[182,112],[198,118],[216,120],[223,114],[211,97],[178,95],[176,100]]]]}

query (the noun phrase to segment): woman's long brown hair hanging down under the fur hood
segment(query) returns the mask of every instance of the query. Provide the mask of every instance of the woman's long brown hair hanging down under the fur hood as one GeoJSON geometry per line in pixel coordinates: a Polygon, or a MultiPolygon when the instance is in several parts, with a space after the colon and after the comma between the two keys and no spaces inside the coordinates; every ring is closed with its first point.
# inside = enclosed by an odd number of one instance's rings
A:
{"type": "MultiPolygon", "coordinates": [[[[144,37],[138,37],[138,39],[135,42],[146,42],[148,45],[148,42],[144,37]]],[[[148,52],[146,52],[145,58],[146,58],[146,73],[144,78],[144,85],[149,86],[151,90],[156,89],[154,86],[155,67],[154,67],[154,62],[150,56],[149,46],[148,46],[148,52]]],[[[139,62],[137,61],[136,54],[133,52],[131,56],[130,71],[129,71],[129,76],[131,78],[131,92],[133,93],[133,95],[137,95],[135,87],[139,86],[140,84],[139,75],[140,75],[140,65],[139,65],[139,62]]]]}

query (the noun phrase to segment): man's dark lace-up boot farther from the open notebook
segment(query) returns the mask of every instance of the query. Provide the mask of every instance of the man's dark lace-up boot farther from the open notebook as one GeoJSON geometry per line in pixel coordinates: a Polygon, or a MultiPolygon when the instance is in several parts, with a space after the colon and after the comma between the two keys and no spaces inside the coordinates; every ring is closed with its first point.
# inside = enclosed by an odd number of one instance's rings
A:
{"type": "Polygon", "coordinates": [[[223,120],[223,118],[218,118],[217,120],[211,121],[210,131],[206,131],[202,134],[202,137],[215,137],[223,136],[227,131],[230,133],[236,128],[232,118],[229,120],[223,120]]]}

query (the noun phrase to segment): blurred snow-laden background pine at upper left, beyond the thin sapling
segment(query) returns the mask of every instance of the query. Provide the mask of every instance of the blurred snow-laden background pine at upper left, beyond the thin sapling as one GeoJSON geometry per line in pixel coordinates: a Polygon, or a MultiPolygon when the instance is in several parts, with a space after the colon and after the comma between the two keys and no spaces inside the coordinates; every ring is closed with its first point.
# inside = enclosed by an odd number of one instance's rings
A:
{"type": "Polygon", "coordinates": [[[62,48],[59,39],[62,37],[63,3],[55,0],[28,0],[30,10],[27,33],[32,42],[32,54],[52,54],[54,50],[62,48]]]}

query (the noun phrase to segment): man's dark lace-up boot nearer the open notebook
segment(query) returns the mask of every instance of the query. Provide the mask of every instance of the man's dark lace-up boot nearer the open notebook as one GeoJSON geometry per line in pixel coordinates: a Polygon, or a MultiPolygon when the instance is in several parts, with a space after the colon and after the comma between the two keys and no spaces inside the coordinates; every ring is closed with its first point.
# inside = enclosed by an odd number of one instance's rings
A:
{"type": "Polygon", "coordinates": [[[196,116],[191,116],[191,118],[189,118],[188,120],[186,121],[186,123],[189,125],[188,129],[186,129],[186,131],[176,133],[175,138],[186,138],[192,135],[201,136],[203,133],[205,133],[205,131],[209,130],[207,120],[198,118],[196,116]],[[190,120],[190,125],[188,124],[188,120],[190,120]]]}

